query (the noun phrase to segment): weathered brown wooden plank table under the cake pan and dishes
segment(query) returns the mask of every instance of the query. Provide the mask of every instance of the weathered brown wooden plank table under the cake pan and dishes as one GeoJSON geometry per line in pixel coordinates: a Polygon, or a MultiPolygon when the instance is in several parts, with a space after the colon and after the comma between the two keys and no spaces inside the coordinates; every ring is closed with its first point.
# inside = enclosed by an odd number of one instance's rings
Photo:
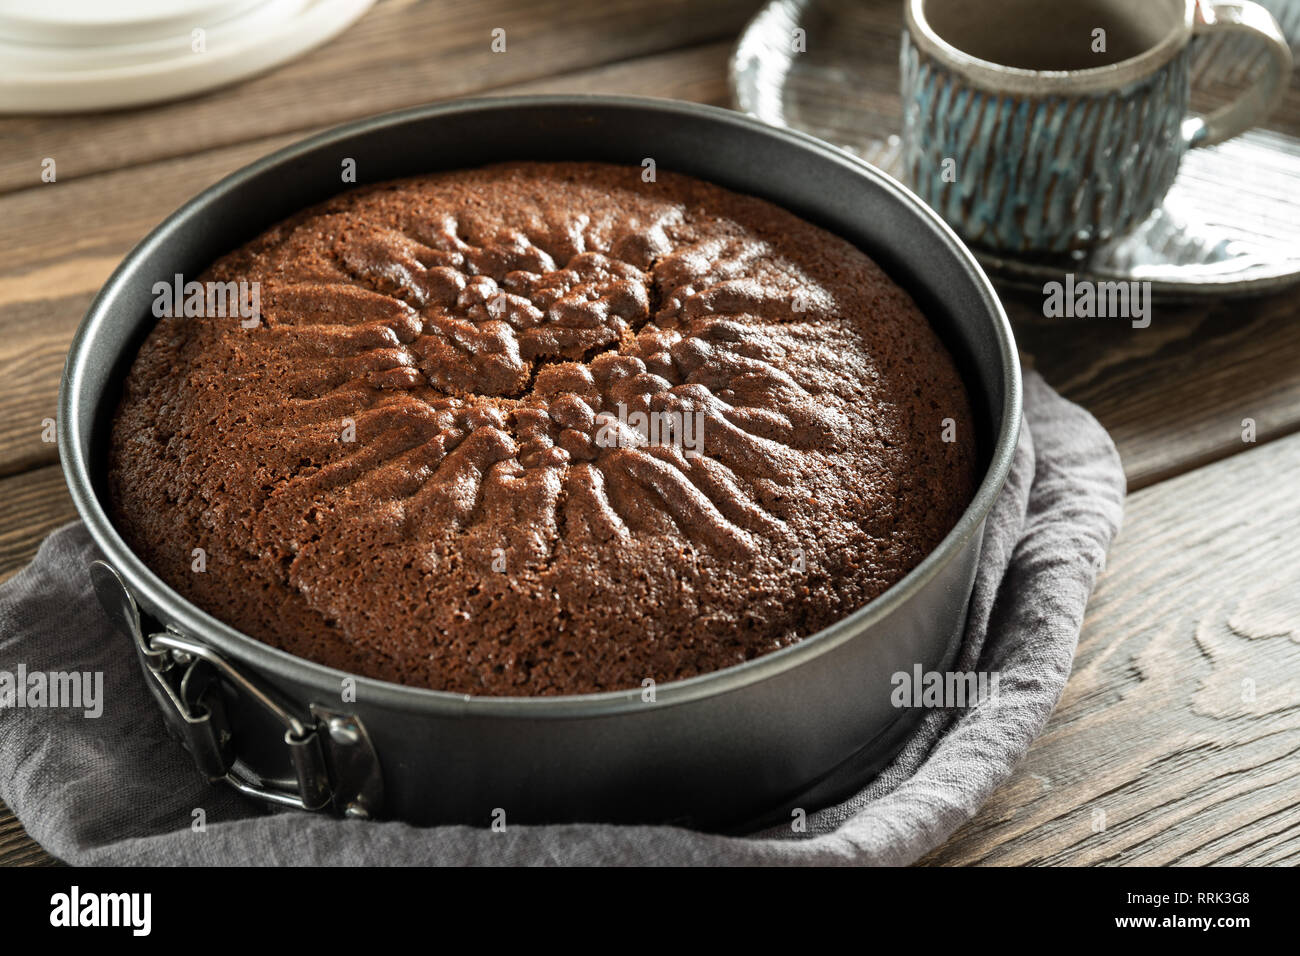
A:
{"type": "MultiPolygon", "coordinates": [[[[42,440],[73,330],[122,255],[185,199],[316,129],[428,100],[582,91],[725,104],[728,49],[754,9],[386,0],[324,49],[229,90],[0,120],[0,579],[74,518],[42,440]],[[489,46],[498,26],[504,55],[489,46]],[[55,183],[42,182],[44,157],[55,183]]],[[[1300,133],[1300,85],[1274,125],[1300,133]]],[[[1106,425],[1130,497],[1046,732],[927,862],[1300,862],[1297,298],[1160,306],[1134,330],[1044,320],[1040,300],[1009,295],[1026,364],[1106,425]]],[[[3,813],[0,862],[52,860],[3,813]]]]}

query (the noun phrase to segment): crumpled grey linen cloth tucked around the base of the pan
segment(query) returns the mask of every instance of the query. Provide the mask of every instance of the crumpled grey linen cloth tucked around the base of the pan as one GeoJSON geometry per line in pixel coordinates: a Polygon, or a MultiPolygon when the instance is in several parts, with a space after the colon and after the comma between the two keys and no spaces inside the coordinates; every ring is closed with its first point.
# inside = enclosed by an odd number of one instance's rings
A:
{"type": "Polygon", "coordinates": [[[127,639],[91,591],[86,570],[99,553],[81,524],[51,535],[0,588],[0,672],[101,672],[103,713],[0,709],[0,799],[70,864],[909,864],[972,817],[1043,730],[1119,527],[1124,479],[1101,425],[1032,372],[1024,425],[954,665],[996,672],[998,692],[928,710],[879,777],[797,832],[420,829],[268,812],[209,784],[168,736],[127,639]]]}

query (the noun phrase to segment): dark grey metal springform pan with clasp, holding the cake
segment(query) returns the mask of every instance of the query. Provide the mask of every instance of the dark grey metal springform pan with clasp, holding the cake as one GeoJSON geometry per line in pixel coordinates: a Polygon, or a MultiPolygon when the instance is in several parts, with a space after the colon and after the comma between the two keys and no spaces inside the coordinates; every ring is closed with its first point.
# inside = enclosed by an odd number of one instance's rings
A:
{"type": "Polygon", "coordinates": [[[852,793],[920,711],[892,678],[957,653],[984,520],[1018,440],[1020,378],[997,297],[944,222],[833,146],[668,100],[543,96],[421,107],[341,126],[212,186],[155,229],[91,304],[64,372],[58,449],[104,553],[101,602],[136,645],[199,767],[263,799],[415,823],[615,821],[745,829],[852,793]],[[152,289],[360,183],[503,160],[603,160],[697,176],[842,235],[906,289],[971,395],[982,481],[952,532],[884,594],[783,650],[653,695],[468,697],[352,678],[199,610],[131,553],[107,514],[107,442],[152,328],[152,289]]]}

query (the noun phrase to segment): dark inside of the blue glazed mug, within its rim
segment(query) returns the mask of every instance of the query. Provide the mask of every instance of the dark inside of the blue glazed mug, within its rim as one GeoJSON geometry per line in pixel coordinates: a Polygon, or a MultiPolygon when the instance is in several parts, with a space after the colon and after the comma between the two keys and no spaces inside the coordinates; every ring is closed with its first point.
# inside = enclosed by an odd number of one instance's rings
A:
{"type": "Polygon", "coordinates": [[[1087,70],[1145,53],[1178,14],[1149,0],[935,3],[930,25],[970,56],[1022,70],[1087,70]]]}

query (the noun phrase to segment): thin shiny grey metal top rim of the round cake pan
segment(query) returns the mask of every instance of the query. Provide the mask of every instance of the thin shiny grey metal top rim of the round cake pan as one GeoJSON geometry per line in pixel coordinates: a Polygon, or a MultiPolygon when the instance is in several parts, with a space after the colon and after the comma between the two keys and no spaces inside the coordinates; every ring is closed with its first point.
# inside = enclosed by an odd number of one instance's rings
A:
{"type": "Polygon", "coordinates": [[[95,544],[104,553],[104,558],[122,575],[133,597],[146,610],[150,610],[150,613],[153,613],[151,610],[153,607],[165,609],[165,617],[169,617],[181,631],[211,644],[216,650],[237,661],[244,662],[255,671],[299,682],[313,689],[330,688],[329,693],[332,695],[337,693],[342,679],[351,678],[355,680],[358,700],[361,700],[364,696],[364,700],[370,705],[398,710],[416,710],[428,714],[572,719],[606,717],[645,708],[642,688],[533,697],[472,696],[364,678],[296,657],[289,652],[264,644],[190,604],[166,585],[131,551],[117,533],[112,520],[108,518],[107,509],[100,503],[95,493],[91,466],[87,455],[83,453],[83,446],[90,445],[90,436],[83,436],[84,429],[79,425],[81,412],[86,401],[82,395],[83,381],[91,358],[88,345],[94,341],[98,330],[113,320],[113,303],[117,299],[118,290],[129,281],[136,264],[142,259],[146,259],[152,250],[164,245],[181,224],[200,213],[211,203],[220,200],[220,196],[234,186],[276,166],[285,166],[296,157],[328,147],[338,140],[370,134],[391,126],[402,126],[410,122],[452,116],[462,112],[508,112],[520,108],[650,109],[682,117],[703,118],[722,126],[741,127],[750,133],[785,140],[792,146],[815,153],[824,161],[846,166],[857,177],[870,181],[876,189],[893,194],[896,199],[909,206],[918,216],[916,225],[927,226],[936,232],[942,245],[957,258],[957,264],[967,273],[967,278],[979,293],[980,304],[987,312],[989,320],[988,332],[993,334],[996,341],[1005,393],[1001,415],[997,421],[992,423],[996,438],[991,450],[988,468],[962,516],[919,564],[858,610],[796,644],[751,661],[699,674],[684,680],[656,684],[655,706],[663,708],[686,704],[702,697],[720,696],[762,683],[835,650],[841,644],[853,640],[863,631],[871,630],[876,623],[890,617],[954,561],[976,535],[982,533],[984,519],[992,510],[1010,473],[1019,441],[1022,377],[1014,334],[1001,300],[988,276],[975,260],[975,256],[939,215],[926,206],[911,190],[881,173],[875,166],[811,135],[796,130],[767,126],[757,118],[734,111],[646,96],[611,96],[602,94],[482,96],[424,104],[364,117],[291,143],[242,166],[188,199],[161,224],[150,230],[114,268],[108,281],[91,302],[69,347],[58,393],[57,437],[58,457],[64,476],[77,512],[86,523],[95,544]]]}

